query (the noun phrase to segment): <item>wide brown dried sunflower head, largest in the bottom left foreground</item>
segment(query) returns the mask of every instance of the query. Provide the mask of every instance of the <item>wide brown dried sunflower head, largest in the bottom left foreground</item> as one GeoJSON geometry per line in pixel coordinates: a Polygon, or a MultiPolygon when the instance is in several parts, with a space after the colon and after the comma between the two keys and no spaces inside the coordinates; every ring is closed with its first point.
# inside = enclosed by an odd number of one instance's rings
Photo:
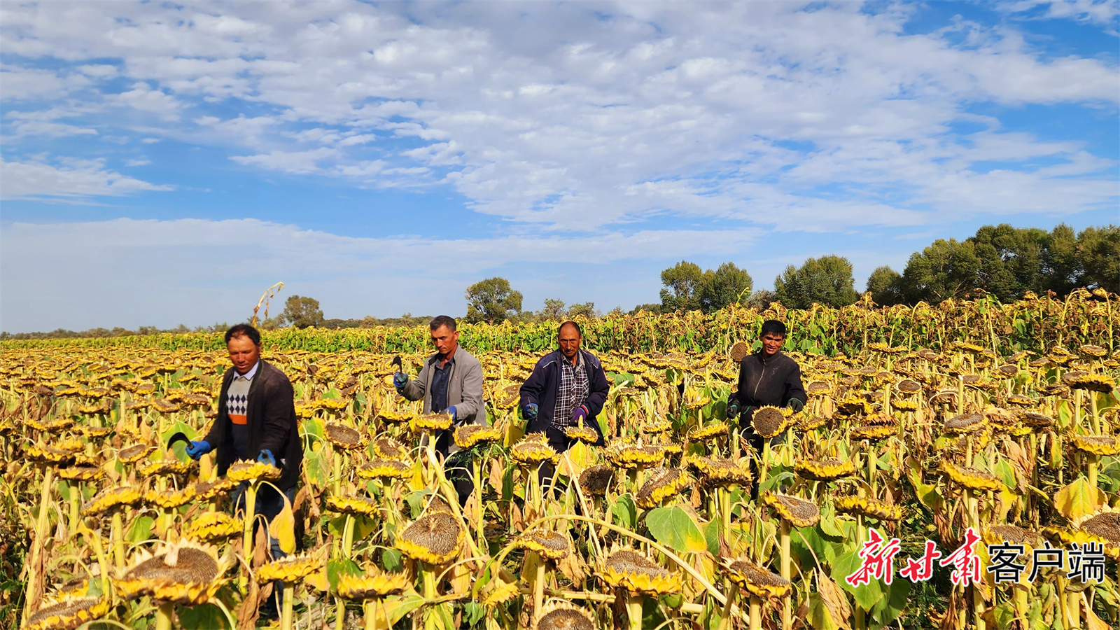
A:
{"type": "Polygon", "coordinates": [[[209,601],[224,583],[222,575],[233,559],[227,558],[218,560],[217,552],[208,545],[180,540],[155,556],[142,549],[113,583],[125,600],[149,595],[160,602],[198,605],[209,601]]]}

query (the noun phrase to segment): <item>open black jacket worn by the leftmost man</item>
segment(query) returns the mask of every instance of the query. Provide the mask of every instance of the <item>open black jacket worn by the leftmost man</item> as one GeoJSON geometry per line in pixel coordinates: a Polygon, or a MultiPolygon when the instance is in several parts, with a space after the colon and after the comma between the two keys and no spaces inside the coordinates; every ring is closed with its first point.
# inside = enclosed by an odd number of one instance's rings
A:
{"type": "MultiPolygon", "coordinates": [[[[230,414],[225,408],[225,392],[236,373],[234,368],[225,372],[222,380],[222,392],[218,395],[217,418],[211,426],[205,439],[217,452],[217,474],[225,475],[230,464],[234,462],[233,429],[230,414]]],[[[299,482],[300,466],[304,463],[304,444],[299,438],[299,420],[296,417],[296,402],[291,381],[279,368],[260,360],[260,368],[249,386],[249,404],[245,411],[245,424],[249,429],[246,452],[251,460],[263,450],[272,452],[280,466],[280,479],[276,482],[281,491],[288,490],[299,482]]]]}

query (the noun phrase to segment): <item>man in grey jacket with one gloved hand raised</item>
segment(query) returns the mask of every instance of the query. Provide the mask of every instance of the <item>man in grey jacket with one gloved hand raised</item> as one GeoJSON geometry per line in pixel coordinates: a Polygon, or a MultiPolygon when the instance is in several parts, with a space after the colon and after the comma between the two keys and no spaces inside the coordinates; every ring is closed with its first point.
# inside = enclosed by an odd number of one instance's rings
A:
{"type": "Polygon", "coordinates": [[[455,465],[450,458],[459,450],[452,430],[458,425],[486,424],[483,367],[469,352],[459,348],[459,331],[454,318],[440,315],[432,318],[428,328],[431,331],[436,354],[424,361],[416,380],[409,379],[404,372],[396,372],[393,374],[393,385],[396,392],[409,400],[423,398],[424,414],[446,413],[451,416],[452,428],[437,430],[431,437],[436,439],[436,452],[448,458],[448,479],[455,484],[459,502],[464,503],[474,484],[470,475],[464,474],[465,470],[459,470],[460,466],[455,465]]]}

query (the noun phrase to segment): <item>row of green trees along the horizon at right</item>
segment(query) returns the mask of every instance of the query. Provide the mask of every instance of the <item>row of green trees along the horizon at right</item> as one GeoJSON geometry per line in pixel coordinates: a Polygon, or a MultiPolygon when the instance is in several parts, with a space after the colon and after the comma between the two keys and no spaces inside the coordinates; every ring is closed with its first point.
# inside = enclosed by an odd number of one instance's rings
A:
{"type": "MultiPolygon", "coordinates": [[[[851,262],[840,256],[810,258],[785,268],[774,290],[752,293],[750,276],[732,262],[701,271],[682,260],[661,272],[661,304],[647,311],[711,313],[734,302],[788,308],[814,303],[840,307],[859,298],[851,262]]],[[[1027,291],[1065,295],[1075,287],[1102,287],[1120,293],[1120,226],[1086,228],[1080,233],[1062,224],[1047,232],[1009,224],[984,225],[963,241],[939,239],[914,252],[902,274],[879,267],[866,290],[878,304],[937,304],[976,289],[1008,302],[1027,291]]]]}

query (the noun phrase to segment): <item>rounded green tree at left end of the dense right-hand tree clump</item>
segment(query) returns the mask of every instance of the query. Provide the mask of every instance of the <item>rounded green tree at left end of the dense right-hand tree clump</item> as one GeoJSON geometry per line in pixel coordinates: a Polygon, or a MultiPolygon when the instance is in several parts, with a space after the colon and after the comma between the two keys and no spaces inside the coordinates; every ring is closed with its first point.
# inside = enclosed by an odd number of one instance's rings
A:
{"type": "Polygon", "coordinates": [[[963,297],[979,286],[979,270],[980,261],[971,242],[937,239],[911,254],[903,271],[903,295],[911,304],[921,300],[937,304],[963,297]]]}

